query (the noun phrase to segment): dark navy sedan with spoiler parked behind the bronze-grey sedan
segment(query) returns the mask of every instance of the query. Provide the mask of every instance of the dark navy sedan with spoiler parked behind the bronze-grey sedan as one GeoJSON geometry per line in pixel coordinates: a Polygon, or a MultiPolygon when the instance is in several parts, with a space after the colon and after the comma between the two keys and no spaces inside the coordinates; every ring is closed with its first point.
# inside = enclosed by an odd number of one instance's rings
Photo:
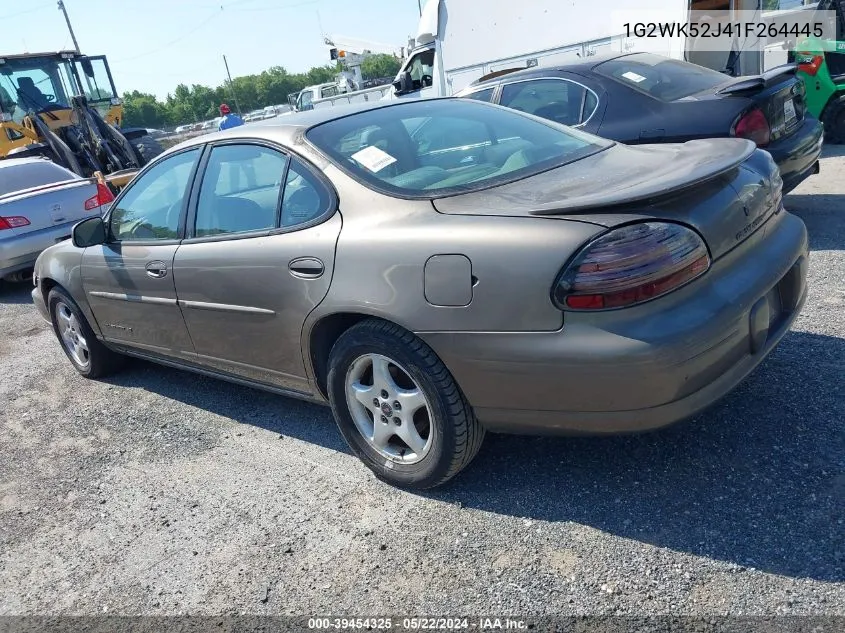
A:
{"type": "Polygon", "coordinates": [[[660,55],[617,54],[500,74],[459,96],[623,143],[747,138],[774,157],[784,193],[819,172],[824,126],[807,112],[794,66],[728,77],[660,55]]]}

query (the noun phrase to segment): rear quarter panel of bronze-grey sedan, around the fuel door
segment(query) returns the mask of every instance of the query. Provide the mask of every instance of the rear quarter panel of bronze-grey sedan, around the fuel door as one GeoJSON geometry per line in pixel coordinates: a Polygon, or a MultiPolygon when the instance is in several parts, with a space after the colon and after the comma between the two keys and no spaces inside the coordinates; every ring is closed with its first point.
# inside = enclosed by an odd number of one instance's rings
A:
{"type": "MultiPolygon", "coordinates": [[[[563,316],[550,291],[569,257],[600,226],[556,218],[445,215],[431,202],[365,189],[335,167],[344,223],[326,299],[306,331],[338,312],[382,317],[411,331],[554,331],[563,316]],[[465,306],[432,305],[426,263],[464,255],[474,286],[465,306]]],[[[456,284],[468,282],[456,279],[456,284]]]]}

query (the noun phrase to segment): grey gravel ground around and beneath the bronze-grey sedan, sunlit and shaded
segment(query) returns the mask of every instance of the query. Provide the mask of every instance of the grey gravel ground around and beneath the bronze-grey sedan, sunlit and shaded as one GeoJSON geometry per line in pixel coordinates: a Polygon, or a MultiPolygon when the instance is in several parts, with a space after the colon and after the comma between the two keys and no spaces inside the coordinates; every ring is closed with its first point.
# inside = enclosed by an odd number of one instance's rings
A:
{"type": "MultiPolygon", "coordinates": [[[[834,149],[834,148],[831,148],[834,149]]],[[[845,152],[787,199],[793,331],[668,430],[488,436],[430,494],[328,409],[142,362],[77,376],[0,291],[2,614],[845,616],[845,152]]]]}

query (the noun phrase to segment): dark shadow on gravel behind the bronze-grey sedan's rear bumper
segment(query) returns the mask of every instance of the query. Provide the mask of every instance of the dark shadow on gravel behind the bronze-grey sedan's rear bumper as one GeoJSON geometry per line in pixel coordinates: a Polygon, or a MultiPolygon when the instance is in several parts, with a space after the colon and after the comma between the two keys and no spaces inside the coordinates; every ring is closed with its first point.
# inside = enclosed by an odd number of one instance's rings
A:
{"type": "Polygon", "coordinates": [[[627,437],[489,436],[464,473],[425,496],[841,582],[843,376],[845,339],[791,332],[694,420],[627,437]]]}

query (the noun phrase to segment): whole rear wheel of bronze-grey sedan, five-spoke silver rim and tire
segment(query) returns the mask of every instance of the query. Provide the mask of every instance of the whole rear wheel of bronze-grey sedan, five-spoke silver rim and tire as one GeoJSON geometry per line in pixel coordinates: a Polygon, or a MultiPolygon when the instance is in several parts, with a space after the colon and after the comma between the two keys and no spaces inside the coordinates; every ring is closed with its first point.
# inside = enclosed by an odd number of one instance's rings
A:
{"type": "Polygon", "coordinates": [[[328,390],[347,444],[390,484],[438,486],[481,447],[484,429],[445,365],[397,325],[371,319],[341,335],[328,390]]]}

